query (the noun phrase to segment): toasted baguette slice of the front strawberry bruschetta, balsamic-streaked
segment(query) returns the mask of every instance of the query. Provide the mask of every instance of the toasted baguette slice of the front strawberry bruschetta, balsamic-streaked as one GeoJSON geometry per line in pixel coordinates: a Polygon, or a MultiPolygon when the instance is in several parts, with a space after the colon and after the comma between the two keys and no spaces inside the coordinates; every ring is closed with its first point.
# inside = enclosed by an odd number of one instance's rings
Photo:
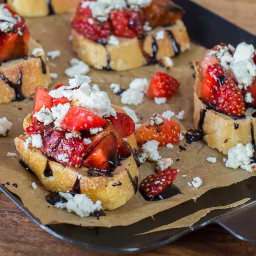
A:
{"type": "MultiPolygon", "coordinates": [[[[23,128],[27,128],[31,122],[32,115],[29,114],[23,122],[23,128]]],[[[26,135],[15,138],[16,148],[21,159],[37,175],[47,190],[55,192],[72,190],[78,175],[81,175],[81,194],[86,194],[94,202],[100,200],[104,209],[114,210],[135,195],[139,171],[133,155],[121,161],[121,166],[115,169],[112,173],[113,176],[95,177],[89,175],[88,168],[70,168],[49,160],[39,149],[33,148],[31,145],[26,149],[24,146],[26,138],[26,135]],[[44,175],[46,168],[51,168],[53,176],[46,177],[44,175]]],[[[128,137],[128,144],[132,149],[137,149],[134,134],[128,137]]]]}

